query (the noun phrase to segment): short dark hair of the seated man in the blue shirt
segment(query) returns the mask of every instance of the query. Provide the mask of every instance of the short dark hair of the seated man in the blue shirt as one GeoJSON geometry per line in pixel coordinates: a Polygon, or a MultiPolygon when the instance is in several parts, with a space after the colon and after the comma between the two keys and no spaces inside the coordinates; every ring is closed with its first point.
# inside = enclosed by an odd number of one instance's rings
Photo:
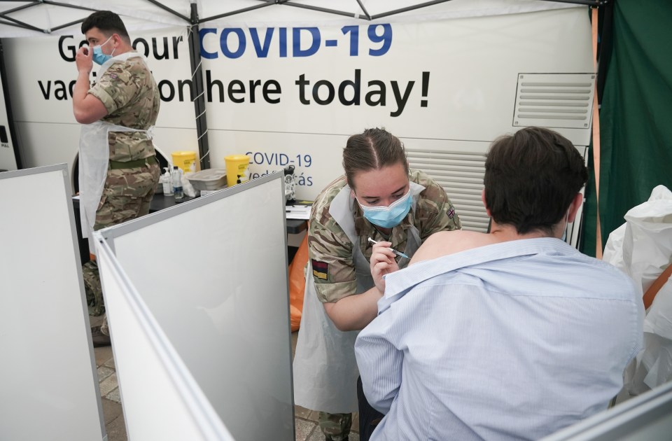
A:
{"type": "Polygon", "coordinates": [[[485,203],[519,234],[550,232],[588,180],[583,158],[561,134],[527,127],[496,139],[485,161],[485,203]]]}

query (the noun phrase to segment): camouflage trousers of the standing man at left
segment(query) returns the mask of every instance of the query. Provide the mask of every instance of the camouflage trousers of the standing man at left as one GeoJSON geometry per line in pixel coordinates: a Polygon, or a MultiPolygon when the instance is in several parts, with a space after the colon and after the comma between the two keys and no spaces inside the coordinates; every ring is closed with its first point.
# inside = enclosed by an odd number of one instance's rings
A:
{"type": "MultiPolygon", "coordinates": [[[[156,164],[134,169],[108,170],[93,229],[100,230],[148,214],[159,174],[160,169],[156,164]]],[[[103,290],[97,262],[95,260],[86,262],[82,267],[82,273],[89,314],[92,316],[104,314],[103,290]]],[[[101,331],[109,335],[106,317],[101,331]]]]}

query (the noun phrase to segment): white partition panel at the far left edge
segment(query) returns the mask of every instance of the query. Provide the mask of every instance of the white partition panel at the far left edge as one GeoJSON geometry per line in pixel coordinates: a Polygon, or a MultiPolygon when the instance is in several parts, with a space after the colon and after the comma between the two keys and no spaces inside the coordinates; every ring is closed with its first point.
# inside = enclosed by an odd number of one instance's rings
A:
{"type": "Polygon", "coordinates": [[[104,440],[66,165],[0,173],[0,439],[104,440]]]}

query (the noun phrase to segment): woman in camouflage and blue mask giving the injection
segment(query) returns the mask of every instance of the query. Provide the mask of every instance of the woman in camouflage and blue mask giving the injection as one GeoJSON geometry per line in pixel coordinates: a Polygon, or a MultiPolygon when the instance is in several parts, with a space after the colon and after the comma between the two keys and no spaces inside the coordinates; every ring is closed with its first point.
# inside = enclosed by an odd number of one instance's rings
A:
{"type": "Polygon", "coordinates": [[[294,399],[320,412],[326,440],[347,440],[356,412],[358,330],[377,315],[380,293],[369,269],[372,243],[405,253],[404,268],[434,232],[461,228],[443,188],[409,170],[404,147],[383,129],[350,137],[345,176],[316,198],[308,232],[303,314],[294,358],[294,399]]]}

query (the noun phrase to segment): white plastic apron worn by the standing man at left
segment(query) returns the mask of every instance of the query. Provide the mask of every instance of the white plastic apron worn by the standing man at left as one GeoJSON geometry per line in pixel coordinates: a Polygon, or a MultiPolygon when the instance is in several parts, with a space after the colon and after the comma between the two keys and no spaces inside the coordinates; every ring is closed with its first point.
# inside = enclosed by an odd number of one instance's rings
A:
{"type": "MultiPolygon", "coordinates": [[[[100,78],[114,62],[125,61],[132,57],[144,59],[138,52],[125,52],[117,55],[100,66],[97,78],[100,78]]],[[[89,238],[91,253],[96,249],[92,232],[110,160],[108,132],[147,132],[151,139],[151,130],[151,128],[150,130],[132,129],[104,121],[82,126],[79,137],[79,216],[82,223],[82,237],[89,238]]]]}

